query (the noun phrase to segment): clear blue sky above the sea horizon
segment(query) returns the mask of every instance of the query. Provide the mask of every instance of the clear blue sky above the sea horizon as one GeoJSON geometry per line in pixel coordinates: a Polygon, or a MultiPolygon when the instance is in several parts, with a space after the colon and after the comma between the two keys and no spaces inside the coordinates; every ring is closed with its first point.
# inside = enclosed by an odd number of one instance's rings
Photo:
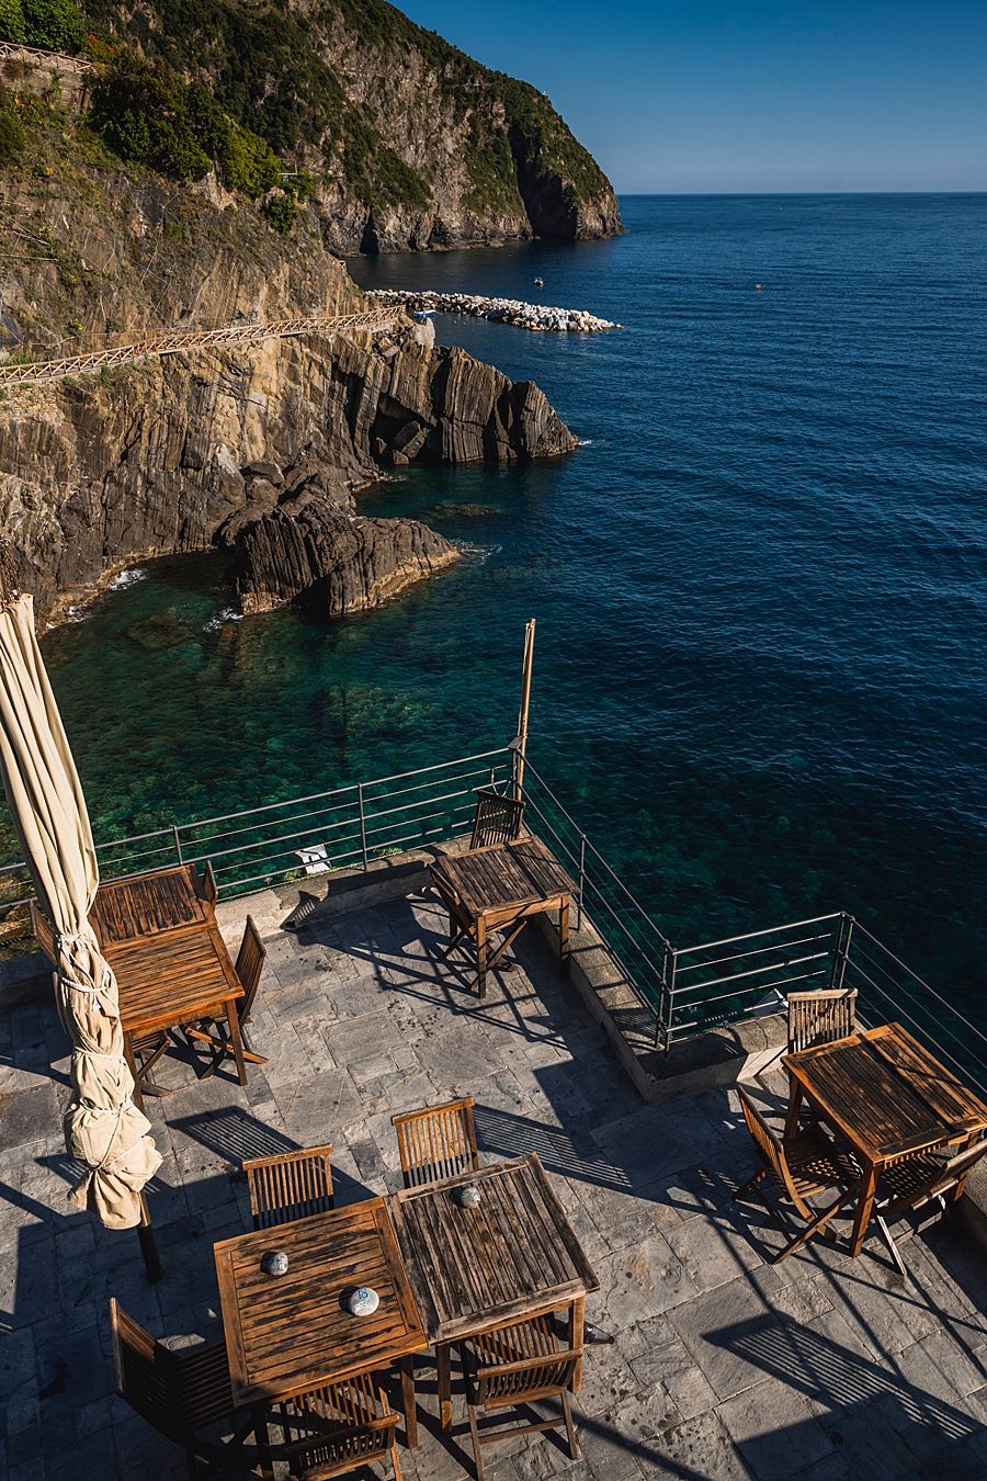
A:
{"type": "Polygon", "coordinates": [[[617,193],[987,190],[987,0],[411,0],[617,193]]]}

